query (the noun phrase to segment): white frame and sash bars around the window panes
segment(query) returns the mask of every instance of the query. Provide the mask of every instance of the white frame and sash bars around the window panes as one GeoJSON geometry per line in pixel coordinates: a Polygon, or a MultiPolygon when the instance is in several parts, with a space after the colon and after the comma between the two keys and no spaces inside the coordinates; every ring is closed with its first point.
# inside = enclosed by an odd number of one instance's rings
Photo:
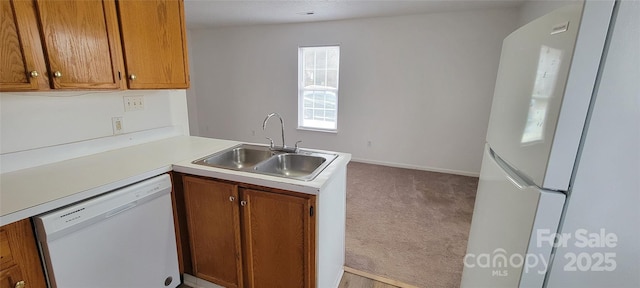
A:
{"type": "MultiPolygon", "coordinates": [[[[325,67],[327,67],[325,65],[325,67]]],[[[327,69],[328,70],[328,69],[327,69]]],[[[325,70],[326,71],[326,70],[325,70]]],[[[325,79],[327,78],[327,73],[325,73],[325,79]]],[[[340,45],[321,45],[321,46],[300,46],[298,47],[298,129],[300,130],[310,130],[310,131],[319,131],[319,132],[329,132],[329,133],[337,133],[338,132],[338,90],[340,87],[340,45]],[[326,86],[311,86],[310,88],[305,88],[304,86],[304,50],[307,48],[338,48],[338,63],[336,67],[336,88],[326,87],[326,86]],[[331,92],[335,94],[335,127],[321,127],[321,125],[305,125],[304,119],[304,94],[309,91],[317,91],[317,92],[331,92]]],[[[319,110],[329,110],[326,108],[322,108],[319,110]]],[[[332,109],[331,109],[332,110],[332,109]]],[[[314,111],[315,112],[315,111],[314,111]]],[[[309,121],[309,120],[306,120],[309,121]]],[[[307,122],[308,123],[308,122],[307,122]]]]}

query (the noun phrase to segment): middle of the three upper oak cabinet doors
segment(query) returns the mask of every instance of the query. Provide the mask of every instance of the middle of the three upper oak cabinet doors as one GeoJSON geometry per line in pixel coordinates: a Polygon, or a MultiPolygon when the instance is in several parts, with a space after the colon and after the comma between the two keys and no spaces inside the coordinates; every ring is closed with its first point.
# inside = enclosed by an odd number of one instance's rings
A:
{"type": "Polygon", "coordinates": [[[37,0],[54,88],[120,87],[122,48],[115,3],[37,0]]]}

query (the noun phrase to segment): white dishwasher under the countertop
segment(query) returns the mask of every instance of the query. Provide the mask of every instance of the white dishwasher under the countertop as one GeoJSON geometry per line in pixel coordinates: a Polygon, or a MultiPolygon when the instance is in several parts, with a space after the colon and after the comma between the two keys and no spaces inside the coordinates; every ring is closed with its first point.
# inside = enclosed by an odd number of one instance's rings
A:
{"type": "Polygon", "coordinates": [[[49,286],[177,287],[170,192],[164,174],[34,217],[49,286]]]}

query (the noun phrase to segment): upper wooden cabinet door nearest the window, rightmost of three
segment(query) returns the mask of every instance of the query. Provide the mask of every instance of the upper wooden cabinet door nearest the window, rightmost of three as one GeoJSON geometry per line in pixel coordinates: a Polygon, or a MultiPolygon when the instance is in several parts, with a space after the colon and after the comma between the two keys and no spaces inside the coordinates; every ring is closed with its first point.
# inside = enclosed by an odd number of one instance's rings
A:
{"type": "Polygon", "coordinates": [[[188,88],[182,0],[120,0],[118,13],[129,88],[188,88]]]}

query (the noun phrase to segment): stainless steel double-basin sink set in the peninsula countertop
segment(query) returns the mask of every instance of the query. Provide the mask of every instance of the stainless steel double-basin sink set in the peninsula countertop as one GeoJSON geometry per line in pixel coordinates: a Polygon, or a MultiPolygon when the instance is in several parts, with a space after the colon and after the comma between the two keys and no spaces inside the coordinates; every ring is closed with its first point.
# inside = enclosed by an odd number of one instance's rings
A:
{"type": "Polygon", "coordinates": [[[193,164],[311,181],[338,155],[299,150],[272,151],[268,146],[240,144],[193,161],[193,164]]]}

